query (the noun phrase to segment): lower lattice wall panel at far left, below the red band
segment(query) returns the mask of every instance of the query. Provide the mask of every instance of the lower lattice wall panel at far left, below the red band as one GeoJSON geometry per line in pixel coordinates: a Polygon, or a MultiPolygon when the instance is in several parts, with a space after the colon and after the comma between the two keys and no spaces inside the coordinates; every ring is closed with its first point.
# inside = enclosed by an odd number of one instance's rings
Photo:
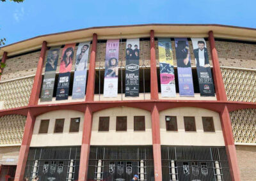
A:
{"type": "Polygon", "coordinates": [[[4,115],[0,117],[0,145],[21,144],[26,116],[4,115]]]}

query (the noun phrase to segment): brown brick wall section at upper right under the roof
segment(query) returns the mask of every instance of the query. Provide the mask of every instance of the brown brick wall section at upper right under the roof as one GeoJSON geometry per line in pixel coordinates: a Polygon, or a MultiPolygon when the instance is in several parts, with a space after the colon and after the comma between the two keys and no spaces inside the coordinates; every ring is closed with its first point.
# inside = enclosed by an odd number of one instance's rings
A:
{"type": "Polygon", "coordinates": [[[220,66],[256,69],[256,45],[215,41],[220,66]]]}

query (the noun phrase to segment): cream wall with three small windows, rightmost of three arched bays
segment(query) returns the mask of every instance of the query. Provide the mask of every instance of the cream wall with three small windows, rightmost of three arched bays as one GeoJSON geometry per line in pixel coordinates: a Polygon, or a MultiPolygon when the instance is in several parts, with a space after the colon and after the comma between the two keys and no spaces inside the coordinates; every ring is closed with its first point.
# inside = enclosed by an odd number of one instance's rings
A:
{"type": "Polygon", "coordinates": [[[161,145],[225,146],[220,116],[202,108],[173,108],[159,113],[161,145]],[[166,131],[166,116],[177,117],[178,131],[166,131]],[[196,131],[185,131],[184,117],[195,117],[196,131]],[[214,132],[205,133],[202,117],[212,117],[214,132]]]}

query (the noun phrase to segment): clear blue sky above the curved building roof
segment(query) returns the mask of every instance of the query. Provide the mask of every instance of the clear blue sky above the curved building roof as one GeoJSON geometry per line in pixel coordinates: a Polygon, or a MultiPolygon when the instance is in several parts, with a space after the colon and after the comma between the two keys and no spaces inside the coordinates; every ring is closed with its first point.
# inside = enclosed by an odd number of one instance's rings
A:
{"type": "Polygon", "coordinates": [[[42,34],[131,24],[225,24],[256,28],[255,0],[0,1],[6,44],[42,34]]]}

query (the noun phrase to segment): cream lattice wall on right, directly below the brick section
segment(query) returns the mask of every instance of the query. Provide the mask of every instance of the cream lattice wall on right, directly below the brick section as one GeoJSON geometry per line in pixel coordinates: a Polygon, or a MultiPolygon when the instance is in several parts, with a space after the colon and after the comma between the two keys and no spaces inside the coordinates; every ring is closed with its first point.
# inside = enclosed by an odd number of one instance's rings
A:
{"type": "Polygon", "coordinates": [[[256,71],[221,68],[228,101],[256,101],[256,71]]]}

